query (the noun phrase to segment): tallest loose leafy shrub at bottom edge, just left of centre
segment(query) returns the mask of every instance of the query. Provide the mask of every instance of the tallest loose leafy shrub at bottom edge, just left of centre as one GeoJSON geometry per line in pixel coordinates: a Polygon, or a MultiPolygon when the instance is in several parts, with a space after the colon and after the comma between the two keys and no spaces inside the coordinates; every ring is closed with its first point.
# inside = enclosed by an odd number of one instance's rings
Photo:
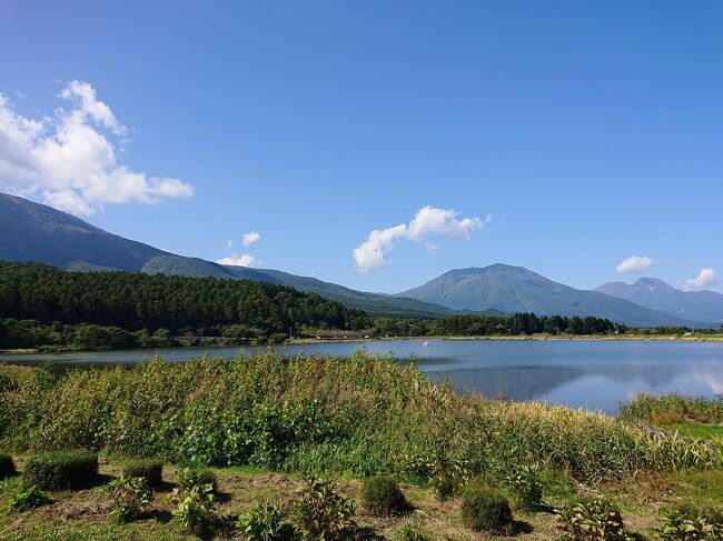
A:
{"type": "Polygon", "coordinates": [[[356,529],[351,500],[327,480],[307,478],[304,497],[294,509],[294,529],[301,539],[346,539],[356,529]]]}

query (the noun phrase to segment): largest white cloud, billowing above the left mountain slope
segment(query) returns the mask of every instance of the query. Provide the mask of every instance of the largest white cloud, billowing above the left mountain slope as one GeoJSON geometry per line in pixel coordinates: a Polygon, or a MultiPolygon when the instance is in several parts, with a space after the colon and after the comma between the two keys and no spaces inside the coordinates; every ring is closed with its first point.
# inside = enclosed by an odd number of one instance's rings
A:
{"type": "Polygon", "coordinates": [[[136,172],[119,161],[128,129],[87,82],[70,81],[59,98],[69,106],[32,119],[0,94],[0,189],[73,214],[103,203],[156,203],[194,194],[190,184],[136,172]]]}

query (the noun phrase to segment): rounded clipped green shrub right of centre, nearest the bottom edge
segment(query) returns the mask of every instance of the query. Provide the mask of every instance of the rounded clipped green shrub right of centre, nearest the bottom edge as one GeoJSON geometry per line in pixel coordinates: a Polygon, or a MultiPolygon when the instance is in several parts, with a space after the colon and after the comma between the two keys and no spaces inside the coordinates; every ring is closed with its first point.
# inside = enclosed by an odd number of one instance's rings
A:
{"type": "Polygon", "coordinates": [[[462,520],[475,531],[508,532],[513,525],[512,509],[504,494],[472,484],[462,493],[462,520]]]}

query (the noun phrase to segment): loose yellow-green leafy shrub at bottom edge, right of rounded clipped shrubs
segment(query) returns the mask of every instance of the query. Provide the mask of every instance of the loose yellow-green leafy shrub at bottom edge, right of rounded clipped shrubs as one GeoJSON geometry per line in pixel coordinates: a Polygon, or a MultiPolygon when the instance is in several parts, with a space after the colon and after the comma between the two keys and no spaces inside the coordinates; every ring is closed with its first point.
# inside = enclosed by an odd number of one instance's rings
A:
{"type": "Polygon", "coordinates": [[[633,538],[623,527],[623,518],[616,505],[596,497],[577,503],[568,503],[558,511],[563,530],[575,540],[627,541],[633,538]]]}

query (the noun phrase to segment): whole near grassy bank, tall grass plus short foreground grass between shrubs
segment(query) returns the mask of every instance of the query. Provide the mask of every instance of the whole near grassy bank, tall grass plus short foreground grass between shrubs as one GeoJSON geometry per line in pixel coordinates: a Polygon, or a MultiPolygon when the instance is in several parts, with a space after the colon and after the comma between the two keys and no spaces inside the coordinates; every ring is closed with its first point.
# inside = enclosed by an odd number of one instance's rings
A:
{"type": "MultiPolygon", "coordinates": [[[[653,409],[637,403],[630,411],[653,409]]],[[[48,450],[93,450],[107,460],[95,487],[52,492],[52,503],[34,511],[10,509],[19,478],[0,481],[0,538],[190,539],[170,514],[178,471],[188,464],[215,468],[225,523],[256,502],[298,499],[301,472],[315,472],[357,502],[357,539],[484,538],[460,517],[459,492],[479,482],[513,502],[517,522],[507,533],[521,538],[559,537],[554,509],[592,494],[617,503],[628,529],[650,537],[661,509],[720,503],[723,447],[641,428],[644,417],[459,395],[414,365],[361,353],[158,359],[62,375],[1,365],[0,450],[19,470],[48,450]],[[121,524],[110,517],[107,483],[139,457],[167,464],[165,483],[146,514],[121,524]],[[408,512],[377,518],[364,510],[363,480],[379,473],[402,482],[408,512]],[[529,483],[544,494],[533,509],[516,503],[529,483]],[[409,529],[422,537],[409,538],[409,529]]]]}

